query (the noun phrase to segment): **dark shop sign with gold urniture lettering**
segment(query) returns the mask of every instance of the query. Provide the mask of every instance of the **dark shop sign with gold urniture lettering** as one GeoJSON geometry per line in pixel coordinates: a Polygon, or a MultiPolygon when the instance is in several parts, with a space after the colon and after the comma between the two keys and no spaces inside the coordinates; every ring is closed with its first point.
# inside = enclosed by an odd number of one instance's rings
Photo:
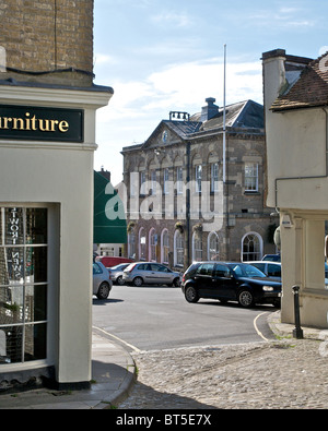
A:
{"type": "Polygon", "coordinates": [[[83,142],[83,110],[0,105],[0,140],[83,142]]]}

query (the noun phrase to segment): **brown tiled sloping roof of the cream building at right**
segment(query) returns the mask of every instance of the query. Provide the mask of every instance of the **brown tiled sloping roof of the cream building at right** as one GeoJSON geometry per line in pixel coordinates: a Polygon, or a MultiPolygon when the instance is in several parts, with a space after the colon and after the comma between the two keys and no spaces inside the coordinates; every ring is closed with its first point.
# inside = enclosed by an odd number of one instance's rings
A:
{"type": "MultiPolygon", "coordinates": [[[[286,75],[289,80],[289,76],[286,75]]],[[[272,104],[273,111],[328,105],[328,52],[312,61],[272,104]],[[326,60],[326,61],[325,61],[326,60]]]]}

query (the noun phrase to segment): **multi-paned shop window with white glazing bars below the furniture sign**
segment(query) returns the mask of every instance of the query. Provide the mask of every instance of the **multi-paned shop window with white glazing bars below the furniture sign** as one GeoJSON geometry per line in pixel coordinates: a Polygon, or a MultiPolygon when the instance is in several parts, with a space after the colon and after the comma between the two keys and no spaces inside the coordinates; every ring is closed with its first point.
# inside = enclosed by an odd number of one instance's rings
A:
{"type": "Polygon", "coordinates": [[[47,208],[0,208],[0,363],[47,356],[47,208]]]}

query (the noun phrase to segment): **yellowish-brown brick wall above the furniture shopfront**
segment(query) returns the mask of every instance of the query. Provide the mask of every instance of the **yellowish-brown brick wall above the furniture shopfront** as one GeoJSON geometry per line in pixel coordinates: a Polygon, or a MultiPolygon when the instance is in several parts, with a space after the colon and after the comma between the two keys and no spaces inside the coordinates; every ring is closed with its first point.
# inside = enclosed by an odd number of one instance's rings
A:
{"type": "Polygon", "coordinates": [[[7,75],[17,81],[90,85],[85,73],[32,75],[62,69],[93,71],[93,0],[0,1],[0,46],[5,49],[7,75]]]}

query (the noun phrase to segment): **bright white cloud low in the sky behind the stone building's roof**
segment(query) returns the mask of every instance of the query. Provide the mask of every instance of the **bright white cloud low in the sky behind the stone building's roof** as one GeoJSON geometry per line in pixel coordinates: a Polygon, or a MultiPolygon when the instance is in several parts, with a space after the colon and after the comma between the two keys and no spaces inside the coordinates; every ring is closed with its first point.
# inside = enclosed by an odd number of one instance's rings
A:
{"type": "MultiPolygon", "coordinates": [[[[109,160],[114,182],[121,178],[124,146],[144,142],[171,110],[200,112],[207,97],[223,105],[223,61],[219,58],[173,64],[143,81],[110,82],[114,96],[97,111],[95,164],[109,160]],[[112,156],[113,155],[113,156],[112,156]],[[114,161],[118,158],[118,163],[114,161]]],[[[226,103],[246,99],[262,103],[261,62],[226,64],[226,103]]]]}

